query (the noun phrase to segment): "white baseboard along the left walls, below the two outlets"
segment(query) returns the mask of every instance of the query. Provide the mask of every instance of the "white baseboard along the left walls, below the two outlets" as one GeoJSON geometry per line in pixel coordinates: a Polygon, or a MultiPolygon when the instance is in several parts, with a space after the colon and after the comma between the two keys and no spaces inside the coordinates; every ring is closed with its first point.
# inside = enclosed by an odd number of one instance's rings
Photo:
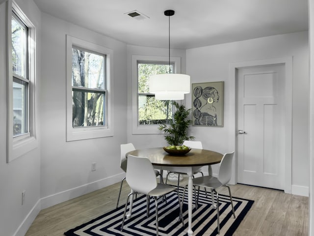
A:
{"type": "Polygon", "coordinates": [[[30,225],[33,223],[39,211],[42,209],[52,207],[56,204],[63,203],[70,199],[107,187],[111,184],[121,181],[123,177],[125,177],[125,174],[121,173],[39,199],[35,206],[29,211],[13,236],[25,236],[30,225]]]}

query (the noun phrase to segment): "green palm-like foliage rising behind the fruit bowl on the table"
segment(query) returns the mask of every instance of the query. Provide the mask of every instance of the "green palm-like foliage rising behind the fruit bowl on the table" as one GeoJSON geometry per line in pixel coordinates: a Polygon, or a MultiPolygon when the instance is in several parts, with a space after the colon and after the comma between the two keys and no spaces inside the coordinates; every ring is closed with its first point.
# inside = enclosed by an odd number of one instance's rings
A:
{"type": "Polygon", "coordinates": [[[176,107],[176,112],[173,115],[173,120],[170,120],[169,125],[161,124],[158,129],[165,134],[165,140],[169,145],[180,146],[184,140],[194,139],[193,136],[187,136],[187,128],[192,123],[192,120],[187,119],[191,109],[185,109],[184,105],[179,105],[177,102],[172,102],[176,107]]]}

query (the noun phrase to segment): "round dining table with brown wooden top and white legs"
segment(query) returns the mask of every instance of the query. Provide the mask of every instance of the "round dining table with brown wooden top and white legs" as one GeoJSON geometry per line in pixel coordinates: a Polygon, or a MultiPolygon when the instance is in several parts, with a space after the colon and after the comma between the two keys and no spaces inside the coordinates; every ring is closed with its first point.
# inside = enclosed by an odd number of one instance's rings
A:
{"type": "MultiPolygon", "coordinates": [[[[163,170],[171,171],[172,167],[180,170],[182,173],[188,175],[187,192],[188,192],[188,230],[187,235],[192,236],[192,189],[193,189],[193,173],[202,166],[209,166],[209,175],[212,175],[211,165],[220,163],[223,154],[206,149],[192,148],[184,155],[173,155],[167,153],[163,148],[145,148],[136,149],[126,153],[128,155],[140,156],[148,158],[153,164],[154,168],[160,169],[161,176],[163,170]]],[[[128,218],[131,217],[131,206],[133,198],[130,200],[130,211],[128,218]]],[[[213,203],[213,198],[212,198],[213,203]]]]}

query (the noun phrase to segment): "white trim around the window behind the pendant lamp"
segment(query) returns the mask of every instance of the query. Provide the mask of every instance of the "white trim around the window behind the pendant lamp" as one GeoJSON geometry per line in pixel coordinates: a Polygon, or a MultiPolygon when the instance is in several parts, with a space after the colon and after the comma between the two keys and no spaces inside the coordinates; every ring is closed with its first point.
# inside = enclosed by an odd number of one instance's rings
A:
{"type": "MultiPolygon", "coordinates": [[[[169,57],[132,55],[132,134],[162,134],[158,130],[159,124],[138,124],[138,63],[165,63],[169,64],[169,57]]],[[[170,57],[173,73],[181,73],[181,58],[170,57]]]]}

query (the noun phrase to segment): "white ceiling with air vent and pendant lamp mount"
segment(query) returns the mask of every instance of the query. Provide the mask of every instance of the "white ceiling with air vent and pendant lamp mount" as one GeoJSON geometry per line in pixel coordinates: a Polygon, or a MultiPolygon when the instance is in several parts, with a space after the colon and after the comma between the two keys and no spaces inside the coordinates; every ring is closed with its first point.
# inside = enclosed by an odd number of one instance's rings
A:
{"type": "Polygon", "coordinates": [[[34,0],[57,18],[131,45],[188,49],[308,30],[308,0],[34,0]],[[148,19],[125,14],[137,10],[148,19]]]}

